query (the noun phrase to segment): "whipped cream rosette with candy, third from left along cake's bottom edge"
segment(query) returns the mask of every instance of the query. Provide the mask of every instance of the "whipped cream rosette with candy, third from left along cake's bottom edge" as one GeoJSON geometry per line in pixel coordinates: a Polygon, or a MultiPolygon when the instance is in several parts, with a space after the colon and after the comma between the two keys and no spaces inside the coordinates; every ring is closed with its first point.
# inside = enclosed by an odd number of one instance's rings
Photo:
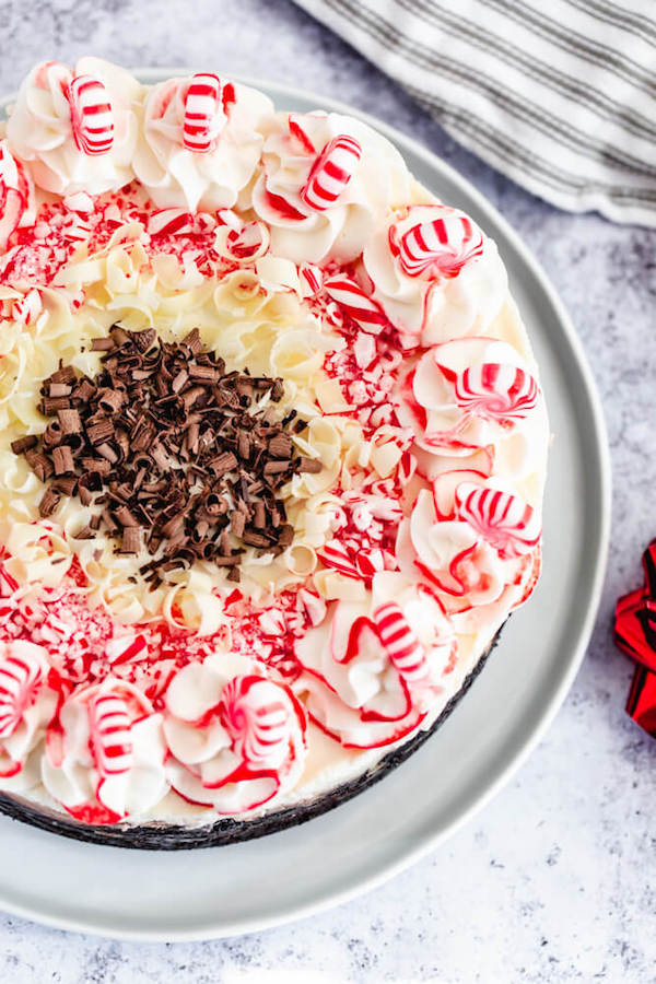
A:
{"type": "Polygon", "coordinates": [[[248,812],[292,787],[307,750],[305,711],[289,687],[225,652],[174,677],[164,731],[173,788],[219,813],[248,812]]]}

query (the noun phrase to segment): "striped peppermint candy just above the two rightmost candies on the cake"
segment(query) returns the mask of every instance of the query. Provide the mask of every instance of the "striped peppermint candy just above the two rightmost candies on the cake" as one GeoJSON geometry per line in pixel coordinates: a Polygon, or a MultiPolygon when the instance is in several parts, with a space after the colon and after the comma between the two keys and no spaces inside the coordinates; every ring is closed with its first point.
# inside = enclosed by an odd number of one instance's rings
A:
{"type": "Polygon", "coordinates": [[[467,215],[420,222],[401,236],[399,262],[408,277],[431,271],[457,277],[466,262],[483,253],[483,235],[467,215]]]}

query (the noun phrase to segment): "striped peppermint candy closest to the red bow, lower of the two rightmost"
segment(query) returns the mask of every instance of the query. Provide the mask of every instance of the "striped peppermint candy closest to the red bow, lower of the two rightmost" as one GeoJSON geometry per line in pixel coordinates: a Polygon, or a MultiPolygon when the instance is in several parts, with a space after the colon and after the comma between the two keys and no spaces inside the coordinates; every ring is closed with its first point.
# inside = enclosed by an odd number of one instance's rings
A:
{"type": "Polygon", "coordinates": [[[500,489],[461,482],[456,489],[456,511],[504,558],[520,557],[540,540],[538,516],[528,503],[500,489]]]}

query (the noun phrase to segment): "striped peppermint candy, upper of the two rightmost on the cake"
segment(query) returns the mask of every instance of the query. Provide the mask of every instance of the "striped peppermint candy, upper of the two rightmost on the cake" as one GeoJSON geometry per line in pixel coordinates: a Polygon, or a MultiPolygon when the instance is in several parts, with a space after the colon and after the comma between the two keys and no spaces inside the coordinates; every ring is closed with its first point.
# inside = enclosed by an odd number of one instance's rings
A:
{"type": "Polygon", "coordinates": [[[538,384],[530,373],[508,363],[466,368],[456,377],[455,390],[458,407],[500,420],[522,420],[538,400],[538,384]]]}

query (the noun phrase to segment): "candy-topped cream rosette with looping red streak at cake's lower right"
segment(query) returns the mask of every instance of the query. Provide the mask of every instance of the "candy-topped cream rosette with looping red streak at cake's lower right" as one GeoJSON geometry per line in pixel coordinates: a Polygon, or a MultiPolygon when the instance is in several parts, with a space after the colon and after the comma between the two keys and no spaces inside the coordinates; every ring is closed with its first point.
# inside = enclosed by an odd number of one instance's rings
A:
{"type": "Polygon", "coordinates": [[[312,719],[348,748],[413,731],[440,699],[457,654],[444,609],[424,585],[376,573],[366,601],[337,601],[296,644],[296,689],[312,719]]]}

